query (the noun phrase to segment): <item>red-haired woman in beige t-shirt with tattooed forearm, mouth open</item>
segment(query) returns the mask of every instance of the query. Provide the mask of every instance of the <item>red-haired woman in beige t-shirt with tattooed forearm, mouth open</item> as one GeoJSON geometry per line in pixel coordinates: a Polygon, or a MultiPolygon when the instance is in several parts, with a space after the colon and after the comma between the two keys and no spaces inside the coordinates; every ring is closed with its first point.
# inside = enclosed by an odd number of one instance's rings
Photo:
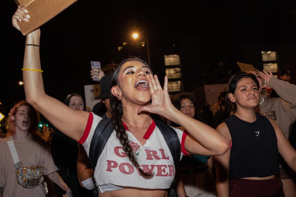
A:
{"type": "MultiPolygon", "coordinates": [[[[14,144],[19,161],[24,167],[33,169],[43,167],[43,173],[59,185],[66,195],[72,196],[70,188],[56,172],[55,164],[47,144],[36,131],[38,129],[38,112],[27,102],[14,105],[8,116],[9,130],[5,139],[0,139],[0,196],[45,196],[42,184],[26,188],[18,183],[15,172],[15,159],[8,143],[14,144]]],[[[26,180],[22,180],[26,182],[26,180]]]]}

